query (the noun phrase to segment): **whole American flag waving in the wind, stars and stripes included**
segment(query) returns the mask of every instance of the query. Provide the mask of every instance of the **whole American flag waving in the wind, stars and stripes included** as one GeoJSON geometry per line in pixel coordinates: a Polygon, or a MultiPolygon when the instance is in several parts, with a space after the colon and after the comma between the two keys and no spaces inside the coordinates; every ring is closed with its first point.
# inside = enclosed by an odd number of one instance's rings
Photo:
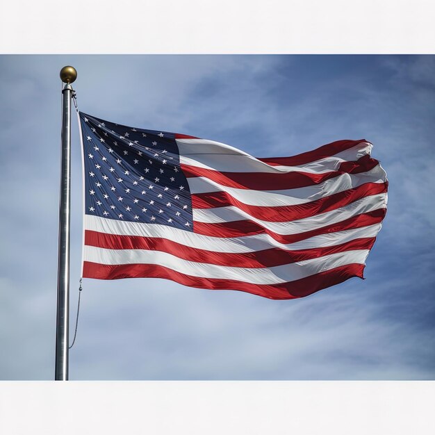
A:
{"type": "Polygon", "coordinates": [[[388,188],[370,142],[254,158],[213,140],[79,119],[83,277],[270,299],[363,277],[388,188]]]}

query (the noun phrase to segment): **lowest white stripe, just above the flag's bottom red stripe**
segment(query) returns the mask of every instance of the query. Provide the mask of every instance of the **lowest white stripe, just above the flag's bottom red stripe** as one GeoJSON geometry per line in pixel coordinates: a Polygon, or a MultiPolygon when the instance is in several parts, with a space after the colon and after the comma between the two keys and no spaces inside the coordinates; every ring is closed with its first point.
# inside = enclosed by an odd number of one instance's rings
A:
{"type": "Polygon", "coordinates": [[[154,264],[193,277],[234,279],[251,284],[280,284],[310,277],[341,265],[364,264],[370,251],[361,249],[325,255],[273,268],[234,268],[229,266],[186,261],[172,254],[143,249],[101,249],[85,247],[85,261],[105,265],[154,264]]]}

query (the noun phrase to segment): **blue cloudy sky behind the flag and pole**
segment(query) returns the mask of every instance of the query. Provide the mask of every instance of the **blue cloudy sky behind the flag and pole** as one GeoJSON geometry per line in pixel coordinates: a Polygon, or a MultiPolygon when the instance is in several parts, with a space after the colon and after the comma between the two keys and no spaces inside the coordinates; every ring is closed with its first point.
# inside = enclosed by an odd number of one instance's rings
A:
{"type": "MultiPolygon", "coordinates": [[[[274,301],[83,279],[69,379],[435,379],[432,55],[0,56],[0,379],[54,378],[65,65],[90,115],[257,157],[365,138],[389,181],[364,280],[274,301]]],[[[81,217],[73,113],[71,337],[81,217]]]]}

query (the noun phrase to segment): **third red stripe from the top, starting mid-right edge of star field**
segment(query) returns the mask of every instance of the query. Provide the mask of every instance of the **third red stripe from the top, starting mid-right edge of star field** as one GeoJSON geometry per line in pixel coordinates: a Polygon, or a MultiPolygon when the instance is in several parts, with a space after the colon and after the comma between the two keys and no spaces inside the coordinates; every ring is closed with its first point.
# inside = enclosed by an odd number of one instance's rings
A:
{"type": "Polygon", "coordinates": [[[288,222],[290,220],[303,219],[347,206],[358,199],[377,195],[387,191],[387,183],[365,183],[353,189],[334,193],[328,197],[316,199],[305,204],[295,206],[252,206],[238,201],[228,192],[207,192],[192,195],[193,208],[219,208],[236,206],[240,210],[249,213],[252,217],[268,222],[288,222]]]}

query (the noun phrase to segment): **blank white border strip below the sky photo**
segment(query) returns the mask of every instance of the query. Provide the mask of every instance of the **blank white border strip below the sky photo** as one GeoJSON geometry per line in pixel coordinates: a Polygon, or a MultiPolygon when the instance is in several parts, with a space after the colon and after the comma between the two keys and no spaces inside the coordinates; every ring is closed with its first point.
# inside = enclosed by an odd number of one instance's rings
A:
{"type": "Polygon", "coordinates": [[[435,383],[421,381],[6,381],[0,388],[0,430],[432,435],[434,397],[435,383]]]}

